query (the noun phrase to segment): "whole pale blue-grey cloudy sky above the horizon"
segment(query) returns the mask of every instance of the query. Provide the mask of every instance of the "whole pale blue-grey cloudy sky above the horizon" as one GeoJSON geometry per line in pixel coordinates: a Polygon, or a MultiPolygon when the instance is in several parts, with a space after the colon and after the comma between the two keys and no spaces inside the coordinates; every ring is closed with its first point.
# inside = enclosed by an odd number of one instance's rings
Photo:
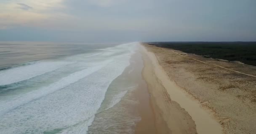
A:
{"type": "Polygon", "coordinates": [[[0,0],[0,41],[256,41],[256,0],[0,0]]]}

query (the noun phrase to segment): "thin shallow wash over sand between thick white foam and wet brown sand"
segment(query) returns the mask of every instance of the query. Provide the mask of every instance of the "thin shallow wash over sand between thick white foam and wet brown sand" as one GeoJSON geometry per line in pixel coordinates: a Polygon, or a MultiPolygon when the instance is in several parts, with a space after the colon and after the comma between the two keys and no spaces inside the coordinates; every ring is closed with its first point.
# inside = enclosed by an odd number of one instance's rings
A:
{"type": "MultiPolygon", "coordinates": [[[[88,134],[134,134],[141,121],[137,90],[143,67],[140,53],[132,55],[130,65],[109,85],[105,99],[95,115],[88,134]]],[[[140,94],[140,97],[144,96],[140,94]]]]}

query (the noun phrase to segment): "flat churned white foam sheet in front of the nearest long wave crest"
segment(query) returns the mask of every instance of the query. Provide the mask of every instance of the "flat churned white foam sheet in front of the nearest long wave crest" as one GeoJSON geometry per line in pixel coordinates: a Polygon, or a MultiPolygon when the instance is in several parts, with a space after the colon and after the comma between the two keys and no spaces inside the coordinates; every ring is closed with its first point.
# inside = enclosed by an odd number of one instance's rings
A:
{"type": "Polygon", "coordinates": [[[112,80],[128,65],[128,55],[117,57],[78,82],[5,113],[0,121],[8,127],[0,126],[0,131],[4,134],[43,133],[65,128],[61,131],[64,134],[85,134],[92,121],[84,122],[96,114],[112,80]]]}

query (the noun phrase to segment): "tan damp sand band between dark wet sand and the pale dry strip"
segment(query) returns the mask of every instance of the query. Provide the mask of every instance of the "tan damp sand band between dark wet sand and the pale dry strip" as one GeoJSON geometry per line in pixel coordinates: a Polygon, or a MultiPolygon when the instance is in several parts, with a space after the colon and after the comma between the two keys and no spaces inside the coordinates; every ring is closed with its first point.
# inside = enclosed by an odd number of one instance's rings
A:
{"type": "Polygon", "coordinates": [[[153,61],[144,50],[141,52],[144,60],[142,74],[151,95],[157,134],[197,134],[196,125],[191,116],[178,103],[172,101],[157,76],[158,72],[155,71],[153,61]]]}

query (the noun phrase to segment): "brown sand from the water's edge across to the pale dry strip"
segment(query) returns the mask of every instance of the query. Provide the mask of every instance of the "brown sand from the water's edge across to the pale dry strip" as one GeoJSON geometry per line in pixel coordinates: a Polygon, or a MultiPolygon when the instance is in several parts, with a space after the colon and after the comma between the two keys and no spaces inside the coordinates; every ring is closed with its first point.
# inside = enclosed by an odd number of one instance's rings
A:
{"type": "Polygon", "coordinates": [[[142,49],[140,52],[143,59],[142,79],[134,95],[139,100],[137,110],[141,121],[136,124],[135,133],[197,134],[195,121],[184,108],[171,100],[157,77],[151,59],[142,49]]]}

